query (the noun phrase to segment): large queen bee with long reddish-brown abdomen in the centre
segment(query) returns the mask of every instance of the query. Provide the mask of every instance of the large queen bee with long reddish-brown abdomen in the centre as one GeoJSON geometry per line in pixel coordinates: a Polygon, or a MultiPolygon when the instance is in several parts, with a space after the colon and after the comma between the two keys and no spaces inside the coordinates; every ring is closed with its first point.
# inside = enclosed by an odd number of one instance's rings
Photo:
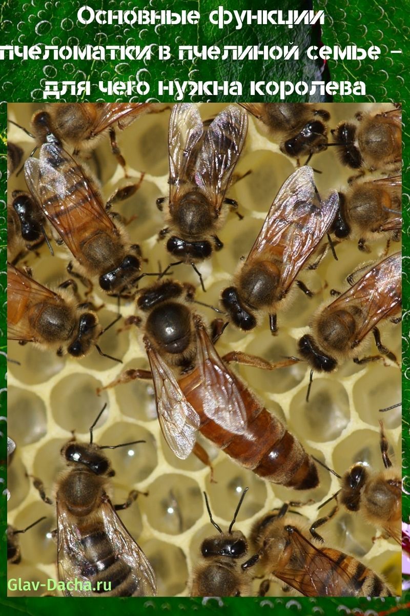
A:
{"type": "MultiPolygon", "coordinates": [[[[192,290],[186,298],[184,290],[178,282],[166,280],[141,292],[141,317],[134,322],[142,327],[151,371],[128,370],[109,387],[135,378],[153,379],[162,434],[180,459],[194,450],[200,431],[268,481],[296,490],[317,487],[312,457],[227,367],[237,361],[273,370],[293,360],[272,365],[242,352],[219,357],[201,318],[187,304],[192,290]]],[[[217,330],[214,339],[221,333],[217,330]]]]}

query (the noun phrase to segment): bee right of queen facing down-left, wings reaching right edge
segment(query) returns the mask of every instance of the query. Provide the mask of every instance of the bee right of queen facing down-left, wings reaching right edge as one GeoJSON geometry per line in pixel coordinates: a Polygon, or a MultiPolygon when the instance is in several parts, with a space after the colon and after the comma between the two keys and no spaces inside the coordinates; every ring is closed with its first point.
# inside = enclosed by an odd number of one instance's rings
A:
{"type": "Polygon", "coordinates": [[[382,319],[396,320],[400,306],[401,253],[395,253],[375,265],[331,304],[318,310],[311,326],[313,335],[302,336],[298,342],[299,353],[318,372],[336,370],[339,363],[350,357],[355,363],[365,363],[380,357],[357,358],[361,342],[373,331],[379,353],[396,362],[396,356],[382,345],[376,325],[382,319]]]}

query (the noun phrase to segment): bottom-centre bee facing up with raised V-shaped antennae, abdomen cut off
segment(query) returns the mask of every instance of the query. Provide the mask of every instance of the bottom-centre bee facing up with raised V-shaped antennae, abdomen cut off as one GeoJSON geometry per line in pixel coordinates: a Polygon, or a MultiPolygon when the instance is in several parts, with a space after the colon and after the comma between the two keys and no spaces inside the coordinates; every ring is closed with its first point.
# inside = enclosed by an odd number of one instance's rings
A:
{"type": "Polygon", "coordinates": [[[240,559],[248,552],[248,542],[240,530],[234,530],[243,498],[249,488],[243,490],[234,518],[227,532],[212,518],[207,494],[204,492],[208,514],[211,524],[220,533],[207,537],[202,541],[202,562],[195,567],[192,579],[191,597],[248,597],[251,593],[251,578],[243,569],[240,569],[240,559]]]}

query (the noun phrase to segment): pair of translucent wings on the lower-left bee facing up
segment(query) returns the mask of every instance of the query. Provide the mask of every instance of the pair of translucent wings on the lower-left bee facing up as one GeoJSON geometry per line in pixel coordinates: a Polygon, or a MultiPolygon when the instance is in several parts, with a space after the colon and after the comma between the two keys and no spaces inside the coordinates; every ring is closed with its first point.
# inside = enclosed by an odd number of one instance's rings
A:
{"type": "MultiPolygon", "coordinates": [[[[99,524],[100,533],[104,532],[112,548],[112,554],[127,564],[135,580],[134,596],[151,596],[157,594],[156,578],[147,557],[135,540],[128,533],[124,524],[114,510],[111,501],[104,493],[98,510],[93,514],[99,524]]],[[[90,550],[81,540],[81,532],[74,524],[73,516],[61,507],[57,500],[57,557],[58,576],[61,581],[81,580],[91,582],[98,573],[98,563],[90,562],[90,550]]],[[[97,580],[96,580],[97,581],[97,580]]],[[[66,591],[68,596],[95,596],[90,590],[66,591]]],[[[100,595],[101,596],[101,595],[100,595]]]]}

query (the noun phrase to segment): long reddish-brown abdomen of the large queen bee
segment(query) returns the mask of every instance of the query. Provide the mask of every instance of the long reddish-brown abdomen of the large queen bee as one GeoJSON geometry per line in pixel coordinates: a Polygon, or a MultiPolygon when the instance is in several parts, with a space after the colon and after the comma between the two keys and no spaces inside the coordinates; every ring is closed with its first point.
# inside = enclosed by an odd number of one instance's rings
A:
{"type": "Polygon", "coordinates": [[[197,368],[179,379],[187,402],[200,416],[203,436],[239,464],[275,484],[296,490],[317,487],[317,468],[299,441],[258,402],[234,373],[229,372],[229,376],[234,379],[246,408],[248,425],[243,434],[233,434],[207,417],[203,410],[206,396],[197,368]]]}

